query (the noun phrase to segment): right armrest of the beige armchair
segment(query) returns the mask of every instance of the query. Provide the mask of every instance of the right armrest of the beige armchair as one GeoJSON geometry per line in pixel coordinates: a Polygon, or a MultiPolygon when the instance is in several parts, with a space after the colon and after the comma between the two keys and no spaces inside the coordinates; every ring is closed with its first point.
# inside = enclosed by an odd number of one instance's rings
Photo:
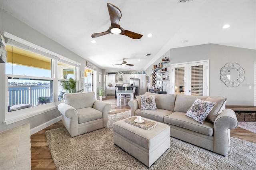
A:
{"type": "Polygon", "coordinates": [[[104,101],[96,100],[92,108],[102,112],[103,127],[106,127],[108,124],[108,111],[111,109],[111,105],[104,101]]]}

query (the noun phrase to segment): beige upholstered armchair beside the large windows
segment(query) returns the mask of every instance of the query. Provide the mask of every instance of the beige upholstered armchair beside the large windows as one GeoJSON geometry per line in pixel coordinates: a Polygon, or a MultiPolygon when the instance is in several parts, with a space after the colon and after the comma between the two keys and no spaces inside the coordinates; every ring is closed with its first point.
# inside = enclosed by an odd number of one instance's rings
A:
{"type": "Polygon", "coordinates": [[[71,137],[106,127],[110,108],[110,104],[96,100],[94,92],[66,93],[64,103],[58,105],[71,137]]]}

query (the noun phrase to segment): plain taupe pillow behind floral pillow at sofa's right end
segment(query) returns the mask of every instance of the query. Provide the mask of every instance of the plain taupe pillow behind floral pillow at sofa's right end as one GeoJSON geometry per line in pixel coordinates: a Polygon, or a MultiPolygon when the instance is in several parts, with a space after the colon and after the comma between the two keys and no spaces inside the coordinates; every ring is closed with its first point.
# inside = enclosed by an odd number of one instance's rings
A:
{"type": "Polygon", "coordinates": [[[205,101],[211,101],[211,102],[216,103],[216,105],[212,108],[212,110],[206,117],[207,120],[214,122],[217,115],[222,112],[222,110],[223,110],[222,108],[223,108],[223,105],[224,105],[226,99],[212,99],[212,98],[208,97],[207,99],[205,99],[205,101]]]}

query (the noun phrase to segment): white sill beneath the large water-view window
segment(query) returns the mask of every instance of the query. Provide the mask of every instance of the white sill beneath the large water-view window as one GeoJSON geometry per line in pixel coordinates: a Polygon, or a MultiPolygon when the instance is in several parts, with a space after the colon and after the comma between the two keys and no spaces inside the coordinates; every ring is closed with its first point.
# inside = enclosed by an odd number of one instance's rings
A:
{"type": "MultiPolygon", "coordinates": [[[[50,106],[50,107],[47,107],[46,109],[43,109],[43,110],[41,109],[41,110],[36,111],[36,112],[30,112],[30,113],[27,113],[27,114],[24,114],[24,115],[19,115],[19,116],[6,117],[6,120],[4,121],[4,123],[6,125],[10,125],[12,123],[15,123],[15,122],[18,122],[18,121],[22,121],[24,119],[28,119],[30,117],[33,117],[33,116],[36,116],[36,115],[40,115],[42,113],[54,110],[56,108],[57,108],[57,106],[50,106]]],[[[31,107],[29,109],[31,109],[31,107]]],[[[24,109],[22,109],[22,110],[24,110],[24,109]]],[[[8,113],[10,113],[10,112],[8,112],[8,113]]]]}

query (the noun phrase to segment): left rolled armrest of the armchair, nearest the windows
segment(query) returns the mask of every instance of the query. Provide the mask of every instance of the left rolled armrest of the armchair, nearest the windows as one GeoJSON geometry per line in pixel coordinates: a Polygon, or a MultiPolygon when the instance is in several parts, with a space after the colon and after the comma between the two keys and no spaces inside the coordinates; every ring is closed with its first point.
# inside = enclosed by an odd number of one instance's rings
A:
{"type": "Polygon", "coordinates": [[[74,107],[72,107],[72,106],[70,106],[66,103],[60,103],[58,105],[58,110],[65,117],[68,117],[70,119],[77,119],[78,120],[78,113],[77,113],[77,111],[74,107]]]}

